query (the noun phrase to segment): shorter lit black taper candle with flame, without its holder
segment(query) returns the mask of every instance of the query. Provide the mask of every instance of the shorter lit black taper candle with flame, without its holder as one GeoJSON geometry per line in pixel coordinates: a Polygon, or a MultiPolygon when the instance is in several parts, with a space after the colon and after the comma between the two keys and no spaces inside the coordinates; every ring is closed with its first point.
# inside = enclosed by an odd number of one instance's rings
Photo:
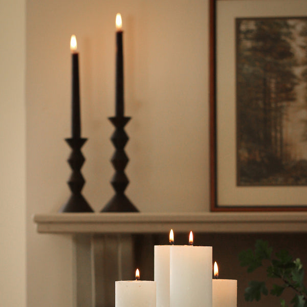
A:
{"type": "Polygon", "coordinates": [[[71,37],[72,52],[72,138],[80,138],[80,90],[79,90],[79,54],[76,36],[71,37]]]}

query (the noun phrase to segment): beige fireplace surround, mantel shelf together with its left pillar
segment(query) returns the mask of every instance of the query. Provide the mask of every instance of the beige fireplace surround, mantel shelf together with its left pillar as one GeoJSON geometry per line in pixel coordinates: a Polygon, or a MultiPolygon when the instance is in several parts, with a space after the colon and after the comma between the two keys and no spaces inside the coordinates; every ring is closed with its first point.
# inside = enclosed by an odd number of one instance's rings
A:
{"type": "Polygon", "coordinates": [[[306,212],[56,213],[36,214],[34,222],[38,233],[72,235],[76,307],[114,307],[115,280],[133,279],[136,267],[152,280],[153,246],[168,244],[170,229],[176,244],[192,230],[196,245],[222,240],[217,250],[231,254],[238,241],[307,232],[306,212]]]}

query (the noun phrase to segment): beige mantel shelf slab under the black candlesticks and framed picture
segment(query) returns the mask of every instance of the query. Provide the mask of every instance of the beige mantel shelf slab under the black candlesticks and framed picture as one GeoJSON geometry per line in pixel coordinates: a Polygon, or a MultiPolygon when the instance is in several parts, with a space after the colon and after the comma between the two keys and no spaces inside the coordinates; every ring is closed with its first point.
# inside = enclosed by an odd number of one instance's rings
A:
{"type": "Polygon", "coordinates": [[[36,214],[39,233],[307,232],[307,212],[36,214]]]}

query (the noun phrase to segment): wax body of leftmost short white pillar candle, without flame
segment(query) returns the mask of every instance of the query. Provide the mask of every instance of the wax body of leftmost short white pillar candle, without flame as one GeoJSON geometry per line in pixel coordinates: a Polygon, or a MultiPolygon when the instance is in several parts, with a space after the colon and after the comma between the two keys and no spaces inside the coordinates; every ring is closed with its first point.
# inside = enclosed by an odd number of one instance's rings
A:
{"type": "Polygon", "coordinates": [[[115,281],[115,307],[156,307],[156,281],[115,281]]]}

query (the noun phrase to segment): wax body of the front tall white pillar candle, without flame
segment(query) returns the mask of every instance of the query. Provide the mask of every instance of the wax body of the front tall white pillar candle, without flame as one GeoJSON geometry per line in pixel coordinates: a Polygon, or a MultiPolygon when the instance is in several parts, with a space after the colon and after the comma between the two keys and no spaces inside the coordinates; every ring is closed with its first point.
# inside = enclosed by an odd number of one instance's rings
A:
{"type": "Polygon", "coordinates": [[[170,307],[212,306],[212,247],[171,246],[170,307]]]}

